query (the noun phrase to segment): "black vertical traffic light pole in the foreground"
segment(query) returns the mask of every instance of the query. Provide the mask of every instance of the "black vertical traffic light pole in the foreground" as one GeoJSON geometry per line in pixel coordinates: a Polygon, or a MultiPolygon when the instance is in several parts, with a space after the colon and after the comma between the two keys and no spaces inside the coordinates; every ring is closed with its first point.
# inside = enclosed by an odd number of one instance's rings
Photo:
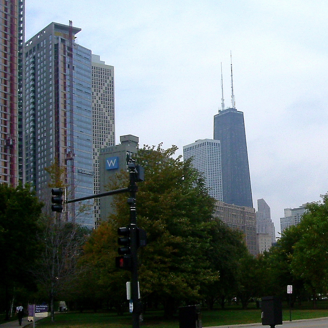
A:
{"type": "Polygon", "coordinates": [[[129,159],[128,162],[130,185],[129,192],[130,198],[128,198],[128,204],[130,205],[130,236],[131,236],[131,300],[133,304],[132,309],[132,328],[139,328],[139,317],[141,313],[141,303],[138,293],[138,256],[137,256],[137,214],[135,207],[135,196],[137,192],[136,185],[136,165],[133,159],[129,159]]]}

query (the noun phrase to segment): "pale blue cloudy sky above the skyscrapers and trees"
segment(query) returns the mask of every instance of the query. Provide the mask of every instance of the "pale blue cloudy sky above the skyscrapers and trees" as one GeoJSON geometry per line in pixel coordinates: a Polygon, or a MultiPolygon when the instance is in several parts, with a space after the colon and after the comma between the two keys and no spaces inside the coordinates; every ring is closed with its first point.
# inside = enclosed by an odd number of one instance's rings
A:
{"type": "MultiPolygon", "coordinates": [[[[328,192],[328,2],[26,0],[26,41],[51,22],[115,70],[116,143],[182,147],[213,138],[213,117],[244,113],[254,207],[276,233],[284,208],[328,192]]],[[[277,236],[279,236],[277,234],[277,236]]]]}

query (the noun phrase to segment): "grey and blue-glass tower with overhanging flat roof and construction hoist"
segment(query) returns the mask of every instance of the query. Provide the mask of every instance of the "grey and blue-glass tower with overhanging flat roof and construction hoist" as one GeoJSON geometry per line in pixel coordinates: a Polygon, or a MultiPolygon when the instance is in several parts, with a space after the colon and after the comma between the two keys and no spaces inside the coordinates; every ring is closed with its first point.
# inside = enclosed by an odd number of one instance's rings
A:
{"type": "MultiPolygon", "coordinates": [[[[67,172],[70,199],[93,194],[91,50],[75,43],[79,31],[71,22],[51,23],[25,48],[26,182],[46,203],[46,168],[55,159],[67,172]]],[[[92,213],[79,213],[79,205],[71,204],[62,215],[93,228],[92,213]]]]}

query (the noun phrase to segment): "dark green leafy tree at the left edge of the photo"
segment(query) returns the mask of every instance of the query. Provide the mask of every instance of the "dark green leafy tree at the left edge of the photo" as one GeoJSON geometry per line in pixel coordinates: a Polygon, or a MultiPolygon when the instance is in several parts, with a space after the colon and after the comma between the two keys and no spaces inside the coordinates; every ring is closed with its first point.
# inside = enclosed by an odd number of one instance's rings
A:
{"type": "Polygon", "coordinates": [[[36,257],[38,219],[43,204],[29,188],[0,184],[0,284],[6,295],[9,314],[9,290],[14,284],[31,285],[28,267],[36,257]]]}

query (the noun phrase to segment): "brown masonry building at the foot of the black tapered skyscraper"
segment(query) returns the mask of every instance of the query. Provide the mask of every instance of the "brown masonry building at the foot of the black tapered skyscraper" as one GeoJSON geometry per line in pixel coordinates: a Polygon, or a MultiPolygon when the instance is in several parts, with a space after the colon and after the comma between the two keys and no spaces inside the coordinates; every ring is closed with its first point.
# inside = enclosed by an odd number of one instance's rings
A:
{"type": "Polygon", "coordinates": [[[228,227],[242,231],[249,253],[257,255],[254,208],[217,201],[214,217],[223,221],[228,227]]]}

